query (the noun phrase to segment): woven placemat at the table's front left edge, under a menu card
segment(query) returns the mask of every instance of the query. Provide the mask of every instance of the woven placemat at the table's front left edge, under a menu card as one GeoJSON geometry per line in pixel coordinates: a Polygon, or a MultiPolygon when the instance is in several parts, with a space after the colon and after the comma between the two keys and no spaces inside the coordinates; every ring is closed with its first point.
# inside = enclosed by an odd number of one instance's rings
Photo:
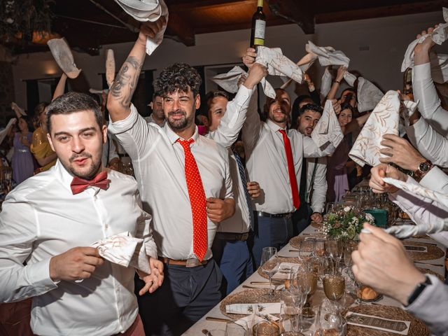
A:
{"type": "Polygon", "coordinates": [[[260,289],[246,289],[241,292],[231,294],[228,297],[225,297],[221,304],[219,305],[219,309],[221,313],[225,316],[228,316],[233,319],[243,318],[247,315],[241,314],[228,314],[225,311],[225,306],[228,304],[236,304],[236,303],[272,303],[272,302],[280,302],[280,292],[279,290],[274,290],[273,295],[269,295],[268,288],[260,288],[260,289]]]}

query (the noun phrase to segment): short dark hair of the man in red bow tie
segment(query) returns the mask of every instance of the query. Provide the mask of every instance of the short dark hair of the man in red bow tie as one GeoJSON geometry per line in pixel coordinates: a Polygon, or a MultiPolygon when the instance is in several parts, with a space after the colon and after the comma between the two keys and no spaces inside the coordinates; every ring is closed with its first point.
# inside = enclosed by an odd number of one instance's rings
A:
{"type": "Polygon", "coordinates": [[[103,116],[98,103],[90,95],[80,92],[68,92],[57,97],[48,105],[47,130],[51,134],[51,116],[57,114],[70,114],[80,111],[93,111],[97,124],[101,129],[103,116]]]}

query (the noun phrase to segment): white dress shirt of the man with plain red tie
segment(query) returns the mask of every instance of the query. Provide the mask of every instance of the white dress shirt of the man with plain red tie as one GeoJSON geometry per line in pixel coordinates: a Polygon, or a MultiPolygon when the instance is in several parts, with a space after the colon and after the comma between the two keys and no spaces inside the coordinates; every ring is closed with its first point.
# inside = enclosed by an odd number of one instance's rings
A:
{"type": "MultiPolygon", "coordinates": [[[[262,193],[254,200],[257,211],[285,214],[295,211],[288,174],[281,127],[267,120],[263,123],[255,104],[248,108],[243,126],[246,167],[250,181],[260,183],[262,193]]],[[[331,144],[321,151],[310,137],[297,130],[287,130],[293,152],[297,186],[300,186],[302,158],[317,158],[335,151],[331,144]]]]}

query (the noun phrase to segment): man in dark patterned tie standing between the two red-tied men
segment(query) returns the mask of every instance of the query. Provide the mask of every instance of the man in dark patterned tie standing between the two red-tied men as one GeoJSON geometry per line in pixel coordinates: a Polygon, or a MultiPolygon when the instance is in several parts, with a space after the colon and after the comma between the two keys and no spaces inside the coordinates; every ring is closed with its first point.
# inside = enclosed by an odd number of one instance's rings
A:
{"type": "MultiPolygon", "coordinates": [[[[257,95],[253,94],[252,99],[257,95]]],[[[209,108],[209,130],[214,132],[221,125],[225,116],[229,96],[223,91],[207,94],[209,108]]],[[[235,145],[235,144],[234,144],[235,145]]],[[[260,186],[255,181],[248,182],[244,163],[234,146],[228,148],[230,176],[232,176],[233,195],[235,197],[235,214],[222,221],[216,232],[212,247],[214,259],[223,272],[223,295],[232,292],[239,284],[253,273],[251,253],[247,240],[253,230],[252,197],[260,195],[260,186]]]]}

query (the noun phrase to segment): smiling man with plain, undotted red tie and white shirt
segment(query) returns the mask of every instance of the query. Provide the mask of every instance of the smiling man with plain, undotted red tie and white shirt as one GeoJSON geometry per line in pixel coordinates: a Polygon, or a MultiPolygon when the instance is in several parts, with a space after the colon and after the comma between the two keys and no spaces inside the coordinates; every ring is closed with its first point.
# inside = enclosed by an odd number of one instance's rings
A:
{"type": "MultiPolygon", "coordinates": [[[[248,48],[243,62],[249,69],[255,57],[255,50],[248,48]]],[[[293,235],[291,214],[300,207],[302,159],[335,151],[332,144],[322,151],[310,137],[288,130],[291,99],[285,90],[275,92],[275,99],[266,99],[266,122],[260,120],[257,106],[249,106],[242,129],[249,179],[260,183],[262,188],[260,197],[254,200],[257,220],[252,252],[256,266],[260,265],[263,247],[281,248],[293,235]]],[[[335,132],[340,134],[341,130],[335,132]]]]}

